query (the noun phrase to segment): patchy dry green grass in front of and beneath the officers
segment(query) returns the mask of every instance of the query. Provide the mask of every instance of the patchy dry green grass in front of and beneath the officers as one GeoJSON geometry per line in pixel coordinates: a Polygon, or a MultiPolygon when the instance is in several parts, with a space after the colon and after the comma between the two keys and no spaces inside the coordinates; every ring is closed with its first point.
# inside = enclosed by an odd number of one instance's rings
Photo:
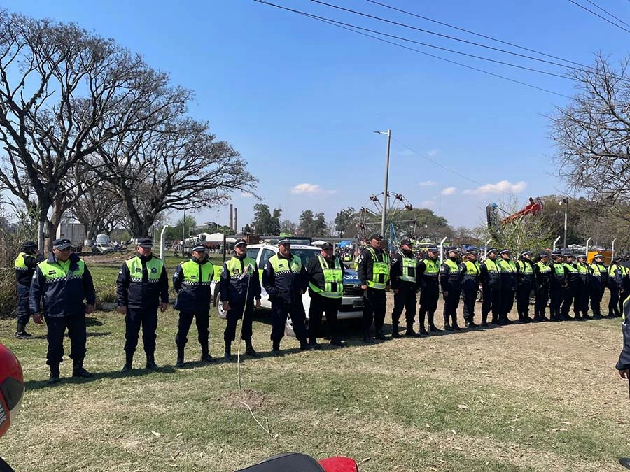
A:
{"type": "MultiPolygon", "coordinates": [[[[62,383],[48,387],[45,340],[15,340],[14,321],[0,321],[27,380],[24,408],[0,441],[3,457],[18,471],[234,471],[299,450],[351,456],[361,471],[616,471],[616,457],[630,452],[627,385],[613,369],[619,320],[372,346],[359,342],[356,323],[344,323],[349,348],[300,352],[286,338],[287,354],[274,358],[259,313],[254,344],[263,357],[241,364],[241,391],[235,362],[196,362],[194,327],[190,366],[173,367],[176,322],[173,310],[160,315],[161,371],[123,376],[123,317],[98,312],[85,362],[94,379],[68,378],[64,362],[62,383]]],[[[224,327],[211,319],[215,357],[224,327]]]]}

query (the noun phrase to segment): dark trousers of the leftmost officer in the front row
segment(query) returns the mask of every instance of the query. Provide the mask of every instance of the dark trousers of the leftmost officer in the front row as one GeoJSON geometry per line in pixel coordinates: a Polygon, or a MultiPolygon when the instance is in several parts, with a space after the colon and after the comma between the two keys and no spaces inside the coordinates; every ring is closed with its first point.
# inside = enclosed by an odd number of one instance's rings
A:
{"type": "Polygon", "coordinates": [[[87,341],[85,312],[60,317],[49,317],[44,314],[44,318],[48,327],[46,364],[52,365],[62,362],[66,329],[70,338],[70,359],[75,362],[82,362],[85,358],[85,341],[87,341]]]}

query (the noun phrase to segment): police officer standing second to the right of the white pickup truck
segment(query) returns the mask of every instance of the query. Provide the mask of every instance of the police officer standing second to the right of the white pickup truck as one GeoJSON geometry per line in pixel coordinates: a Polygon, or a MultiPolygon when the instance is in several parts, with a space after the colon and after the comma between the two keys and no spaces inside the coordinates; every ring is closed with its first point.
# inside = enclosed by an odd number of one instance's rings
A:
{"type": "Polygon", "coordinates": [[[391,259],[391,289],[394,292],[394,306],[391,312],[391,337],[400,338],[398,323],[403,308],[405,309],[405,322],[407,323],[406,336],[416,338],[419,336],[414,331],[414,318],[416,317],[416,265],[417,259],[412,250],[410,239],[400,241],[400,249],[391,259]]]}

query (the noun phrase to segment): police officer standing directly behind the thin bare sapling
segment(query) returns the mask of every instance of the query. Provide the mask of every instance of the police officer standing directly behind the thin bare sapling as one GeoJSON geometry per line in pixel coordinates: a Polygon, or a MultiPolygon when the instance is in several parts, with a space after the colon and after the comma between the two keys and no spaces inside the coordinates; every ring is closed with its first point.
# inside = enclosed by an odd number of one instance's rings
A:
{"type": "Polygon", "coordinates": [[[247,243],[239,239],[234,244],[234,255],[223,263],[219,282],[223,309],[228,312],[228,324],[223,332],[225,360],[232,360],[232,341],[236,339],[238,321],[241,324],[241,338],[245,340],[245,354],[258,357],[251,343],[254,300],[260,307],[260,274],[256,260],[247,255],[247,243]]]}

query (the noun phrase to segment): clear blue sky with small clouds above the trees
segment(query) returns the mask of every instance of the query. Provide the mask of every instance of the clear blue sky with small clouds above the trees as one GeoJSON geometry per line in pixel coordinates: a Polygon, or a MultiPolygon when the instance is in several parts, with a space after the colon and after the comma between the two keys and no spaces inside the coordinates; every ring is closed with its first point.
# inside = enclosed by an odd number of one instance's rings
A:
{"type": "MultiPolygon", "coordinates": [[[[564,72],[309,0],[272,1],[414,41],[564,72]]],[[[582,64],[591,65],[597,51],[610,53],[615,61],[627,53],[623,45],[629,33],[566,0],[381,1],[582,64]]],[[[549,157],[554,148],[545,117],[554,106],[566,103],[561,96],[253,0],[3,3],[13,11],[78,22],[115,38],[141,52],[149,64],[172,73],[174,83],[195,90],[190,114],[209,120],[216,136],[241,152],[260,180],[258,194],[264,203],[280,206],[290,220],[296,221],[304,209],[334,218],[338,210],[360,208],[370,194],[383,191],[386,137],[374,130],[391,129],[393,138],[448,169],[392,141],[389,189],[414,206],[435,210],[453,226],[481,223],[487,203],[506,201],[512,194],[524,202],[528,196],[563,192],[563,183],[553,176],[549,157]],[[497,183],[503,193],[495,186],[482,187],[497,183]]],[[[365,0],[329,3],[505,48],[365,0]]],[[[596,3],[630,22],[630,2],[596,3]]],[[[411,46],[574,94],[570,80],[411,46]]],[[[243,226],[251,219],[255,201],[238,193],[233,203],[243,226]]],[[[197,222],[228,222],[227,207],[195,216],[197,222]]]]}

